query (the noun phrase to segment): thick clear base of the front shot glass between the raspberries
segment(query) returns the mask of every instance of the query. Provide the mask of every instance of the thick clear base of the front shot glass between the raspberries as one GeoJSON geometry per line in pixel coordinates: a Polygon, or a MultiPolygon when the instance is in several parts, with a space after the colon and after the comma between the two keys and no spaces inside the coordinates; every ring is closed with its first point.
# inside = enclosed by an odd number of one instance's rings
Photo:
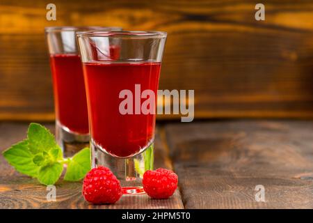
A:
{"type": "Polygon", "coordinates": [[[153,169],[154,151],[153,141],[150,142],[142,153],[134,157],[114,157],[106,153],[103,148],[91,141],[92,167],[108,167],[120,180],[122,192],[125,195],[143,194],[142,178],[145,171],[153,169]]]}

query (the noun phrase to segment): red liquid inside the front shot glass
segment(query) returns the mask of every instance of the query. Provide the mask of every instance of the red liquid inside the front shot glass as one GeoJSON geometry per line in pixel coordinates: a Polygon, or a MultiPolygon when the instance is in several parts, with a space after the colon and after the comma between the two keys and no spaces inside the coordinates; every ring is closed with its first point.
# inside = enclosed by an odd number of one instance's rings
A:
{"type": "MultiPolygon", "coordinates": [[[[155,114],[120,114],[120,91],[135,84],[157,95],[161,63],[84,63],[90,133],[106,152],[128,157],[148,146],[154,136],[155,114]]],[[[141,103],[146,99],[141,99],[141,103]]],[[[157,100],[157,96],[156,96],[157,100]]]]}

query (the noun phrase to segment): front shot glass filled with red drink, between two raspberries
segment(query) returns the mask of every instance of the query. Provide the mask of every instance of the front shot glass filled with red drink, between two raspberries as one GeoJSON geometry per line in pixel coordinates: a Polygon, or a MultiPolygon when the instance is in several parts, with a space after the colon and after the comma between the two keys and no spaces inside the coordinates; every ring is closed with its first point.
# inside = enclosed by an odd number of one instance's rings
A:
{"type": "Polygon", "coordinates": [[[143,193],[153,168],[157,89],[166,33],[77,33],[85,77],[92,167],[109,167],[123,194],[143,193]]]}

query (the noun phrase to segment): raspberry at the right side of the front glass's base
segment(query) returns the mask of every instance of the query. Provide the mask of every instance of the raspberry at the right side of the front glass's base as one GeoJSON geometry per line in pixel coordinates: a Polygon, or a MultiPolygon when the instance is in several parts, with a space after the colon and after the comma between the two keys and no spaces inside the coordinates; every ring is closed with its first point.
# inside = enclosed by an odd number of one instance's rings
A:
{"type": "Polygon", "coordinates": [[[143,190],[154,199],[168,199],[174,194],[178,183],[178,176],[168,169],[145,171],[143,174],[143,190]]]}

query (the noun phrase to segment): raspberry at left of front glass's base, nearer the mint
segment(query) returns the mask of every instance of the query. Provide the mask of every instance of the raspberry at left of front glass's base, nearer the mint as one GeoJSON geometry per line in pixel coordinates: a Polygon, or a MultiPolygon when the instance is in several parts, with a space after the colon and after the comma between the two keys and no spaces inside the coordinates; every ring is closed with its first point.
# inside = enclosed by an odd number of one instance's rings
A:
{"type": "Polygon", "coordinates": [[[109,168],[93,168],[83,179],[83,197],[95,204],[115,203],[122,197],[120,181],[109,168]]]}

